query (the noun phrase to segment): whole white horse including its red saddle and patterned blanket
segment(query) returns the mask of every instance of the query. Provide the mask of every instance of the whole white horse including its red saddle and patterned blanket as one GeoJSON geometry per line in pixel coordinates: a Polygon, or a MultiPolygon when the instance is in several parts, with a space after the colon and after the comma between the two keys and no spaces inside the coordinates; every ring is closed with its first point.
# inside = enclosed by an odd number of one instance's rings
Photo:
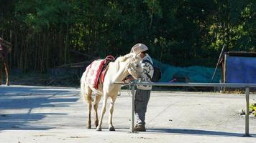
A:
{"type": "Polygon", "coordinates": [[[86,71],[83,72],[83,76],[81,77],[81,97],[85,99],[88,104],[88,129],[91,129],[91,109],[93,107],[95,111],[94,124],[96,130],[101,131],[102,120],[106,112],[106,102],[110,97],[109,131],[115,130],[112,124],[112,114],[121,85],[114,84],[114,82],[122,82],[128,74],[131,74],[134,79],[139,78],[142,74],[141,60],[139,54],[129,53],[124,56],[119,56],[115,61],[113,56],[107,56],[106,59],[93,61],[87,66],[86,71]],[[105,66],[105,69],[102,69],[103,66],[105,66]],[[101,74],[101,71],[104,74],[101,74]],[[96,93],[95,99],[91,96],[92,92],[96,93]],[[104,101],[101,109],[101,117],[98,119],[97,110],[101,96],[103,96],[104,101]]]}

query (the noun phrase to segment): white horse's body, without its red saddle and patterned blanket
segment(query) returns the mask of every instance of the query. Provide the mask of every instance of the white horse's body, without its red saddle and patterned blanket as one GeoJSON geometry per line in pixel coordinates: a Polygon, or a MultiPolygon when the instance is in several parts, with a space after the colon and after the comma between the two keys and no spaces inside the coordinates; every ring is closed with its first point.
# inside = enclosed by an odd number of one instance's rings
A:
{"type": "Polygon", "coordinates": [[[117,94],[121,89],[120,84],[114,84],[114,82],[122,82],[122,80],[131,74],[134,79],[137,79],[142,74],[142,66],[140,64],[140,54],[129,53],[124,56],[120,56],[116,61],[110,62],[106,71],[104,83],[99,83],[99,88],[95,89],[86,83],[86,71],[83,72],[81,77],[81,97],[86,99],[88,104],[88,121],[87,128],[91,129],[91,107],[95,111],[95,126],[97,131],[101,131],[101,124],[104,114],[106,112],[106,102],[110,97],[110,109],[109,109],[109,131],[115,131],[112,124],[112,115],[114,111],[114,102],[116,101],[117,94]],[[96,93],[94,102],[92,99],[92,92],[96,93]],[[103,95],[104,101],[101,109],[101,118],[98,119],[98,104],[103,95]]]}

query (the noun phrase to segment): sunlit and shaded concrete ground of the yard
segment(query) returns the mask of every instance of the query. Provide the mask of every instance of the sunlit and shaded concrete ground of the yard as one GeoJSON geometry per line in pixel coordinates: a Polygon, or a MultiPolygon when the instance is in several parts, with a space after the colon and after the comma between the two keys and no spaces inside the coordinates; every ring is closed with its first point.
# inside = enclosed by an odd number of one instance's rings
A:
{"type": "MultiPolygon", "coordinates": [[[[256,142],[256,117],[250,116],[251,137],[244,135],[243,94],[152,92],[147,132],[130,133],[129,91],[116,99],[108,131],[86,129],[86,104],[79,89],[31,86],[0,87],[0,142],[256,142]]],[[[256,95],[250,95],[250,103],[256,95]]],[[[100,107],[101,108],[101,107],[100,107]]],[[[99,108],[99,109],[100,109],[99,108]]]]}

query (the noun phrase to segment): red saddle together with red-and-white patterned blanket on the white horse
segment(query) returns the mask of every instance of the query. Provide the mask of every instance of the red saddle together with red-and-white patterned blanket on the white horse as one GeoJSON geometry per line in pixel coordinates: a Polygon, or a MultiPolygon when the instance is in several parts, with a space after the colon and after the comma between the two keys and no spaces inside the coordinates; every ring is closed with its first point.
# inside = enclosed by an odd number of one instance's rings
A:
{"type": "Polygon", "coordinates": [[[99,88],[99,82],[104,82],[104,77],[108,69],[109,63],[114,61],[114,56],[106,56],[105,59],[93,61],[86,67],[86,83],[90,84],[95,89],[99,88]]]}

